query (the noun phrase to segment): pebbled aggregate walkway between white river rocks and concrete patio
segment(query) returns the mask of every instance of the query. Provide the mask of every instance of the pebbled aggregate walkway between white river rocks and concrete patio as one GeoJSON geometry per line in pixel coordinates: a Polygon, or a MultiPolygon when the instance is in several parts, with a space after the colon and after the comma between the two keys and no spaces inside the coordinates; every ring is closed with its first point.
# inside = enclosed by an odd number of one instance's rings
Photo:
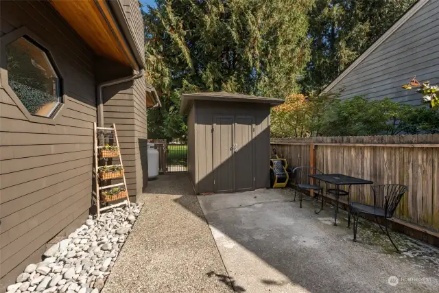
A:
{"type": "Polygon", "coordinates": [[[102,292],[233,292],[187,174],[150,181],[102,292]]]}

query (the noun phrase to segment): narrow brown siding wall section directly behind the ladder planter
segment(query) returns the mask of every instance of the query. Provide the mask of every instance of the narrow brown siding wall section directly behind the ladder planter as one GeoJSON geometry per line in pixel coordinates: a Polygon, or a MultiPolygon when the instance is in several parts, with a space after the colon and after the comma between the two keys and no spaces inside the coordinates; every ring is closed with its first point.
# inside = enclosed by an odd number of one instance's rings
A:
{"type": "MultiPolygon", "coordinates": [[[[107,61],[99,60],[99,81],[135,74],[132,69],[107,61]]],[[[104,124],[106,127],[116,124],[128,194],[135,201],[147,185],[145,78],[104,87],[103,99],[104,124]]],[[[112,161],[118,162],[118,159],[112,161]]]]}

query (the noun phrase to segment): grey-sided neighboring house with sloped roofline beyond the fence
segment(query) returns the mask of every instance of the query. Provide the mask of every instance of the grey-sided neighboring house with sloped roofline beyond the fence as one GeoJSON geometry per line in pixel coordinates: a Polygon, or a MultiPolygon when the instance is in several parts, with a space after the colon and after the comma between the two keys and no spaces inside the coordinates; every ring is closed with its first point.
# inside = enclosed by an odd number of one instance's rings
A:
{"type": "Polygon", "coordinates": [[[340,99],[366,95],[420,105],[420,95],[401,86],[414,75],[419,82],[439,83],[438,14],[439,1],[417,1],[324,92],[340,93],[340,99]]]}

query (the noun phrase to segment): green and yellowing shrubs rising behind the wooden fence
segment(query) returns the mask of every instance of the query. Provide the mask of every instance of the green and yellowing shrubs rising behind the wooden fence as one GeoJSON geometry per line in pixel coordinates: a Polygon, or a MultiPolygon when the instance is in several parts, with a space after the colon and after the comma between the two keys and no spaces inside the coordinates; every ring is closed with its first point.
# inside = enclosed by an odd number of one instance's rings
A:
{"type": "Polygon", "coordinates": [[[272,110],[272,137],[357,136],[439,133],[439,112],[430,108],[370,101],[361,96],[340,101],[331,97],[289,97],[272,110]]]}

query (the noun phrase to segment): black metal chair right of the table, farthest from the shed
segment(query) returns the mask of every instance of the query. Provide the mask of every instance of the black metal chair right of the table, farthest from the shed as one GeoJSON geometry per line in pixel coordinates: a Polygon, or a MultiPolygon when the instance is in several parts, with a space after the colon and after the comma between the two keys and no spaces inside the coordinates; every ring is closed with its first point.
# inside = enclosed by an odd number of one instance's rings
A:
{"type": "Polygon", "coordinates": [[[375,217],[375,221],[381,228],[383,233],[387,234],[392,242],[394,248],[396,248],[396,252],[399,253],[398,247],[393,243],[392,238],[390,237],[388,231],[388,219],[392,218],[396,207],[398,207],[401,198],[403,198],[405,192],[407,192],[408,187],[405,185],[399,184],[386,184],[386,185],[373,185],[370,187],[373,192],[373,205],[370,204],[361,204],[359,202],[351,202],[349,204],[349,213],[352,213],[354,220],[354,241],[357,241],[357,227],[358,227],[358,218],[360,213],[364,213],[366,215],[373,215],[375,217]],[[381,224],[378,222],[378,218],[384,218],[384,227],[381,227],[381,224]]]}

